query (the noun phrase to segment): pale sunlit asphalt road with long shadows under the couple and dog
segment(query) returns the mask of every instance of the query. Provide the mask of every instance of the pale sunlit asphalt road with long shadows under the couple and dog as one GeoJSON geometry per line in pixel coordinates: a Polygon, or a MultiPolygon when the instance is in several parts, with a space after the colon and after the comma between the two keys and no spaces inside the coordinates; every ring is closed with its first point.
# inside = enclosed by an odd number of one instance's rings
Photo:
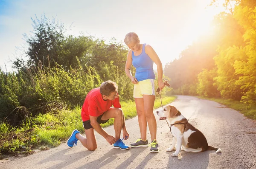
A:
{"type": "MultiPolygon", "coordinates": [[[[172,143],[169,127],[166,121],[158,121],[155,110],[159,153],[150,153],[149,147],[113,149],[96,133],[98,149],[95,151],[88,151],[79,141],[73,148],[63,143],[27,157],[0,160],[0,169],[256,169],[256,121],[214,101],[192,96],[178,96],[171,105],[204,133],[209,145],[221,148],[222,152],[181,151],[181,159],[172,157],[173,152],[166,152],[172,143]]],[[[126,120],[130,134],[126,144],[140,137],[137,120],[137,117],[126,120]]],[[[105,130],[114,135],[113,126],[105,130]]],[[[149,130],[147,136],[151,141],[149,130]]]]}

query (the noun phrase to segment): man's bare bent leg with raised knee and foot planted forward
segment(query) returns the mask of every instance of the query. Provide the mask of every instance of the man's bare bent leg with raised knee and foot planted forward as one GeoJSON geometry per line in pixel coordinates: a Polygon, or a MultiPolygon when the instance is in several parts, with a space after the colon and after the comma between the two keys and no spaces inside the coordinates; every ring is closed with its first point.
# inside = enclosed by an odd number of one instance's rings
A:
{"type": "Polygon", "coordinates": [[[116,107],[110,107],[103,115],[101,120],[108,120],[114,118],[114,130],[116,133],[116,140],[120,138],[121,130],[123,126],[123,112],[122,109],[116,107]]]}

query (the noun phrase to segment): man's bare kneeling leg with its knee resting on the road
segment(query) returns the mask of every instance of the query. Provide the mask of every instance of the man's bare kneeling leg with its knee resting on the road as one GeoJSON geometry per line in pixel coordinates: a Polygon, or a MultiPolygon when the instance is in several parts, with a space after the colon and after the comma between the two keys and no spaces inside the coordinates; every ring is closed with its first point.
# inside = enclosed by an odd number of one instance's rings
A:
{"type": "Polygon", "coordinates": [[[81,144],[90,151],[94,151],[97,148],[96,137],[94,134],[94,129],[90,128],[88,130],[84,129],[86,137],[82,136],[80,133],[76,134],[76,138],[81,142],[81,144]]]}

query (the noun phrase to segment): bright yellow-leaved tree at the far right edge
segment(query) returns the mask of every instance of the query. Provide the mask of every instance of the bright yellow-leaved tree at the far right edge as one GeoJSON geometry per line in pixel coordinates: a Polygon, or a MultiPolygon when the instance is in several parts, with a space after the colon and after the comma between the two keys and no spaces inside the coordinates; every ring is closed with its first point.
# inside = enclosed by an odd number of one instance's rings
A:
{"type": "Polygon", "coordinates": [[[256,9],[237,6],[234,17],[245,29],[243,37],[247,42],[247,45],[241,48],[242,59],[234,62],[235,73],[240,75],[235,84],[240,86],[243,92],[242,101],[256,104],[256,9]]]}

